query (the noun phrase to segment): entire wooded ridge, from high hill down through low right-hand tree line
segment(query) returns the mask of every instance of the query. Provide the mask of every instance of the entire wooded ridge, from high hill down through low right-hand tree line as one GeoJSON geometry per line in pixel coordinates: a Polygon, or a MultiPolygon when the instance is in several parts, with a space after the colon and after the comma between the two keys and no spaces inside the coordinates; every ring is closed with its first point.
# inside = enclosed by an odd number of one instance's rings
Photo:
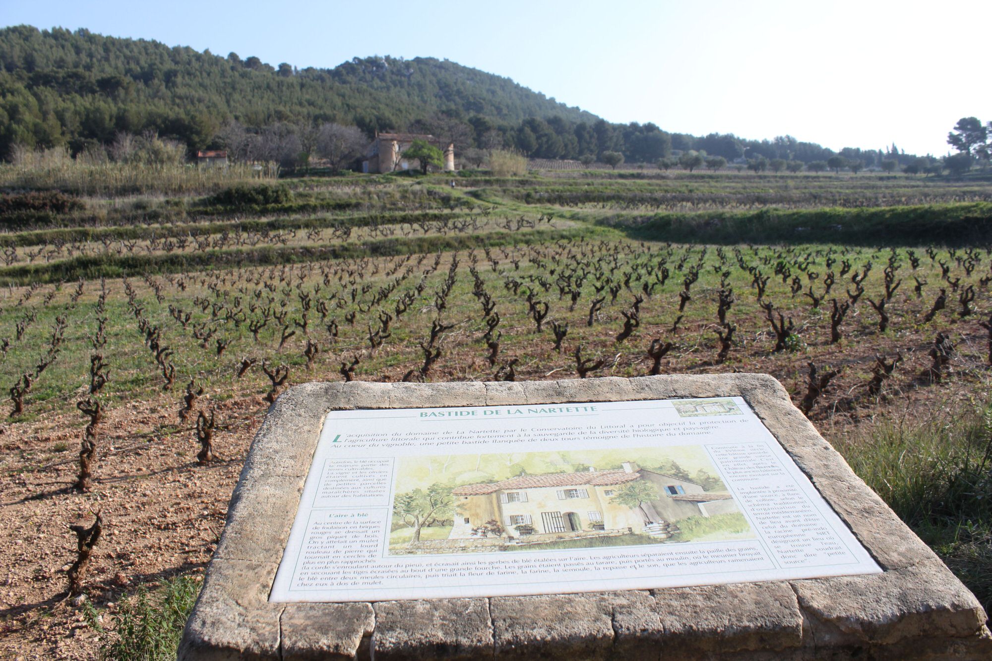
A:
{"type": "MultiPolygon", "coordinates": [[[[121,132],[152,131],[188,150],[229,147],[222,129],[232,121],[256,135],[272,129],[263,141],[286,148],[269,150],[267,158],[284,165],[308,151],[287,136],[325,122],[357,126],[368,136],[434,132],[459,153],[503,147],[537,159],[601,159],[614,151],[628,163],[656,163],[674,150],[699,150],[727,161],[810,163],[835,154],[788,135],[759,141],[669,133],[651,122],[612,124],[510,78],[434,58],[297,68],[87,30],[0,29],[0,159],[9,160],[15,145],[65,145],[76,154],[121,132]]],[[[841,155],[863,167],[884,158],[915,160],[852,148],[841,155]]]]}

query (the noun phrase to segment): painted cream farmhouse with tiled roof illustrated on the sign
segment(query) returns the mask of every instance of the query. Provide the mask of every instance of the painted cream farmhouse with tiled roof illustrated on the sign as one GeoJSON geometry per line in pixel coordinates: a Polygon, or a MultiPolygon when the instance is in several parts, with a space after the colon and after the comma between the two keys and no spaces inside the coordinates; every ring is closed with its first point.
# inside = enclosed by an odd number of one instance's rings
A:
{"type": "Polygon", "coordinates": [[[609,532],[630,529],[652,534],[693,515],[735,512],[725,491],[706,491],[693,481],[641,468],[622,468],[521,475],[498,482],[464,484],[452,490],[454,525],[448,539],[469,539],[473,529],[497,521],[509,537],[522,534],[609,532]],[[613,500],[617,490],[637,480],[656,487],[660,497],[630,508],[613,500]]]}

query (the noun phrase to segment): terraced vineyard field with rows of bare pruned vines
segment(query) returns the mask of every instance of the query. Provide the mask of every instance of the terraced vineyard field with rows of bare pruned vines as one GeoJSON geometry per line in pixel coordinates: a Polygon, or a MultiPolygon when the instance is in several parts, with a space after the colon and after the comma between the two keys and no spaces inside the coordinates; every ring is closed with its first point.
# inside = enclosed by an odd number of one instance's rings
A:
{"type": "Polygon", "coordinates": [[[0,655],[89,658],[142,586],[201,574],[311,380],[770,373],[988,607],[987,500],[949,532],[917,500],[989,488],[992,183],[238,177],[0,173],[0,655]],[[887,483],[911,465],[939,484],[887,483]]]}

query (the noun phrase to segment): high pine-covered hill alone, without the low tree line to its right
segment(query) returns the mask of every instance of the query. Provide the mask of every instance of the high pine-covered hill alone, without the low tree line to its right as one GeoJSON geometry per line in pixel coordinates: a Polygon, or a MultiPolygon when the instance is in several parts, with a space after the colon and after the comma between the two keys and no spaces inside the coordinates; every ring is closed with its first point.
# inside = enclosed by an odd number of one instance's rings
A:
{"type": "Polygon", "coordinates": [[[230,119],[336,121],[373,132],[438,112],[503,125],[598,119],[510,78],[434,58],[297,69],[86,30],[0,30],[0,155],[15,143],[107,142],[145,129],[198,148],[230,119]]]}

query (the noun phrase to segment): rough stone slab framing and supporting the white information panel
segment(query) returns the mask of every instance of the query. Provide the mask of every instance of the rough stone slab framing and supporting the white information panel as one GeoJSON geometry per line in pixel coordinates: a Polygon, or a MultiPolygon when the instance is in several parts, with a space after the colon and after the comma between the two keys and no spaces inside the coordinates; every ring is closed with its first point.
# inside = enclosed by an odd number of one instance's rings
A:
{"type": "Polygon", "coordinates": [[[762,374],[500,383],[309,383],[272,406],[186,622],[206,659],[989,659],[986,615],[762,374]],[[268,600],[327,412],[743,397],[882,574],[579,595],[268,600]]]}

